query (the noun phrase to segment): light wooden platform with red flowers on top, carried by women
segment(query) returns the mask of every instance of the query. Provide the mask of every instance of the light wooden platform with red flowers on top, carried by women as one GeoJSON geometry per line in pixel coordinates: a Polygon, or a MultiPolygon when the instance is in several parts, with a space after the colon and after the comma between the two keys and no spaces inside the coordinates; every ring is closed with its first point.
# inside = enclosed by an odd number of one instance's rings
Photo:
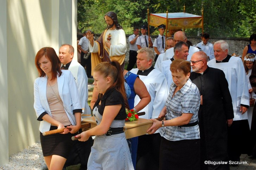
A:
{"type": "MultiPolygon", "coordinates": [[[[97,126],[96,120],[94,117],[84,118],[83,122],[87,122],[91,124],[91,128],[97,126]]],[[[153,121],[148,119],[139,118],[133,122],[125,122],[125,126],[123,127],[123,131],[125,132],[126,139],[133,138],[136,136],[145,135],[149,127],[153,125],[153,121]]],[[[89,128],[85,128],[84,130],[88,130],[89,128]]]]}

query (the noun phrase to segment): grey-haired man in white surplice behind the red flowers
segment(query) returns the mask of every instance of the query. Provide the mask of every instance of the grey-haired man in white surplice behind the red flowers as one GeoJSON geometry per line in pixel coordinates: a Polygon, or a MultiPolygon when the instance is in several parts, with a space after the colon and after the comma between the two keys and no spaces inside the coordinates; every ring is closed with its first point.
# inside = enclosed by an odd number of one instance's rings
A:
{"type": "MultiPolygon", "coordinates": [[[[149,48],[141,48],[137,55],[137,68],[133,68],[130,71],[139,75],[151,96],[151,102],[141,110],[145,111],[146,115],[140,116],[140,118],[158,118],[161,109],[165,106],[169,93],[164,75],[152,66],[153,60],[153,51],[149,48]]],[[[134,105],[139,101],[140,98],[136,96],[134,105]]],[[[143,166],[145,169],[159,169],[160,142],[159,131],[152,135],[139,136],[137,166],[143,166]]]]}

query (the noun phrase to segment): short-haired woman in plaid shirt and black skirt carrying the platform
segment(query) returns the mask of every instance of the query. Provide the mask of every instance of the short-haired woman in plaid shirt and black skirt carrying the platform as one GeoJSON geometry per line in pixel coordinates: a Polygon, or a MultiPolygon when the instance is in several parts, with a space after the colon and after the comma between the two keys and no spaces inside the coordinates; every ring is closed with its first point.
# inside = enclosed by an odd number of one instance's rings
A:
{"type": "Polygon", "coordinates": [[[200,93],[189,79],[189,61],[177,59],[171,64],[173,83],[160,117],[151,119],[154,123],[148,129],[152,134],[160,127],[162,136],[159,156],[159,169],[200,169],[200,133],[198,110],[200,93]]]}

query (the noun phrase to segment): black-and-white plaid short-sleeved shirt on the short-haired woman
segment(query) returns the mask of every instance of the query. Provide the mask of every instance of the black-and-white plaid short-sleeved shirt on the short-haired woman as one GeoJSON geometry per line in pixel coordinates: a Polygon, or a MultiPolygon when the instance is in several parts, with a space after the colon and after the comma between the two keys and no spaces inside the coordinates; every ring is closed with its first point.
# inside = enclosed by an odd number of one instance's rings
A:
{"type": "MultiPolygon", "coordinates": [[[[167,111],[166,120],[179,117],[182,113],[192,113],[193,116],[189,123],[196,122],[200,106],[200,93],[197,86],[188,79],[185,85],[173,96],[176,87],[174,83],[171,84],[169,96],[165,104],[167,111]]],[[[198,125],[191,127],[165,126],[160,130],[160,135],[171,141],[200,139],[198,125]]]]}

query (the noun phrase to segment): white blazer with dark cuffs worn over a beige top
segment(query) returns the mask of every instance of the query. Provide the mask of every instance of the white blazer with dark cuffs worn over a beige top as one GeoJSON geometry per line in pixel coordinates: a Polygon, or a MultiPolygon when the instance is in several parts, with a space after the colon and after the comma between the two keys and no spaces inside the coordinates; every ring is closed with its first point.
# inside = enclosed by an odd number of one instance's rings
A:
{"type": "MultiPolygon", "coordinates": [[[[62,75],[60,77],[57,76],[57,83],[59,96],[63,102],[65,112],[71,124],[76,125],[76,118],[73,114],[73,110],[81,109],[76,81],[70,71],[62,70],[62,75]]],[[[34,81],[34,109],[36,111],[37,117],[39,117],[44,112],[46,112],[49,116],[52,117],[46,97],[46,86],[47,76],[38,77],[34,81]]],[[[42,120],[40,122],[39,130],[42,133],[45,131],[49,131],[50,126],[51,123],[42,120]]]]}

